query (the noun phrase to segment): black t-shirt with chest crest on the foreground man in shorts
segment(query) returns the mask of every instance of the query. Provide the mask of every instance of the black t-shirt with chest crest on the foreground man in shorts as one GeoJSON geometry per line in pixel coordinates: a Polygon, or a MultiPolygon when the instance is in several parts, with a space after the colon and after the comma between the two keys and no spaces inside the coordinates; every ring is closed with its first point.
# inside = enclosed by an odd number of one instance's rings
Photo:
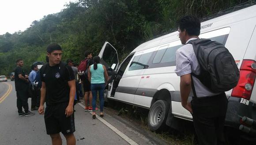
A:
{"type": "Polygon", "coordinates": [[[70,88],[68,81],[75,80],[72,68],[64,62],[55,66],[49,63],[40,69],[41,81],[45,82],[46,105],[54,105],[61,102],[69,101],[70,88]]]}

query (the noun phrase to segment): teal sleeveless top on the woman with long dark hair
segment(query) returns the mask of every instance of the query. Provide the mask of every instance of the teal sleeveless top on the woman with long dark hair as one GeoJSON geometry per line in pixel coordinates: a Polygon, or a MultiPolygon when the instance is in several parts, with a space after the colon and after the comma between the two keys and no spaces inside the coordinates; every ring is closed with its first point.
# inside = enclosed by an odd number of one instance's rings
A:
{"type": "Polygon", "coordinates": [[[90,65],[91,80],[90,83],[105,83],[104,69],[102,64],[97,64],[97,69],[93,69],[93,65],[90,65]]]}

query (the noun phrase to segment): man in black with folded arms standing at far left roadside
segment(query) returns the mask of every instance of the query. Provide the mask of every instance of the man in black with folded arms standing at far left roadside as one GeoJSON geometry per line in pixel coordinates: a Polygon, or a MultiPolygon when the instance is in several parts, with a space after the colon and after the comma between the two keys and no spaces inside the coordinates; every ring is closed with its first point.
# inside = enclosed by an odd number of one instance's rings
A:
{"type": "Polygon", "coordinates": [[[26,79],[25,72],[21,67],[23,67],[23,60],[17,59],[16,61],[17,67],[15,69],[14,77],[15,77],[15,90],[17,95],[17,108],[19,117],[21,116],[32,116],[35,113],[32,113],[28,110],[28,84],[29,80],[26,79]],[[22,110],[24,108],[24,111],[22,110]]]}

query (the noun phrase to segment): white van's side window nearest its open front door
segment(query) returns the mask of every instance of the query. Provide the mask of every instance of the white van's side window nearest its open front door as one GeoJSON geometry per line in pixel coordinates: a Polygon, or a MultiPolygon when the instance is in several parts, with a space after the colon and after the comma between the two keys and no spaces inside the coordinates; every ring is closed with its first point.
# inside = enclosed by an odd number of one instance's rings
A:
{"type": "Polygon", "coordinates": [[[153,52],[137,55],[132,60],[132,63],[129,67],[129,71],[138,70],[138,69],[147,69],[148,68],[148,61],[151,58],[153,52]]]}

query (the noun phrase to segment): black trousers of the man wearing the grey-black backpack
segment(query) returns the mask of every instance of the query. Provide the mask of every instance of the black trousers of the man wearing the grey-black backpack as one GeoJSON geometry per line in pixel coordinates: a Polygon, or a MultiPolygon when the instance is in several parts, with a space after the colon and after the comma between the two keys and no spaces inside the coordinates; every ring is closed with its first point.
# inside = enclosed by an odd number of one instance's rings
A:
{"type": "Polygon", "coordinates": [[[226,94],[193,98],[193,123],[200,145],[225,145],[224,124],[227,111],[226,94]]]}

